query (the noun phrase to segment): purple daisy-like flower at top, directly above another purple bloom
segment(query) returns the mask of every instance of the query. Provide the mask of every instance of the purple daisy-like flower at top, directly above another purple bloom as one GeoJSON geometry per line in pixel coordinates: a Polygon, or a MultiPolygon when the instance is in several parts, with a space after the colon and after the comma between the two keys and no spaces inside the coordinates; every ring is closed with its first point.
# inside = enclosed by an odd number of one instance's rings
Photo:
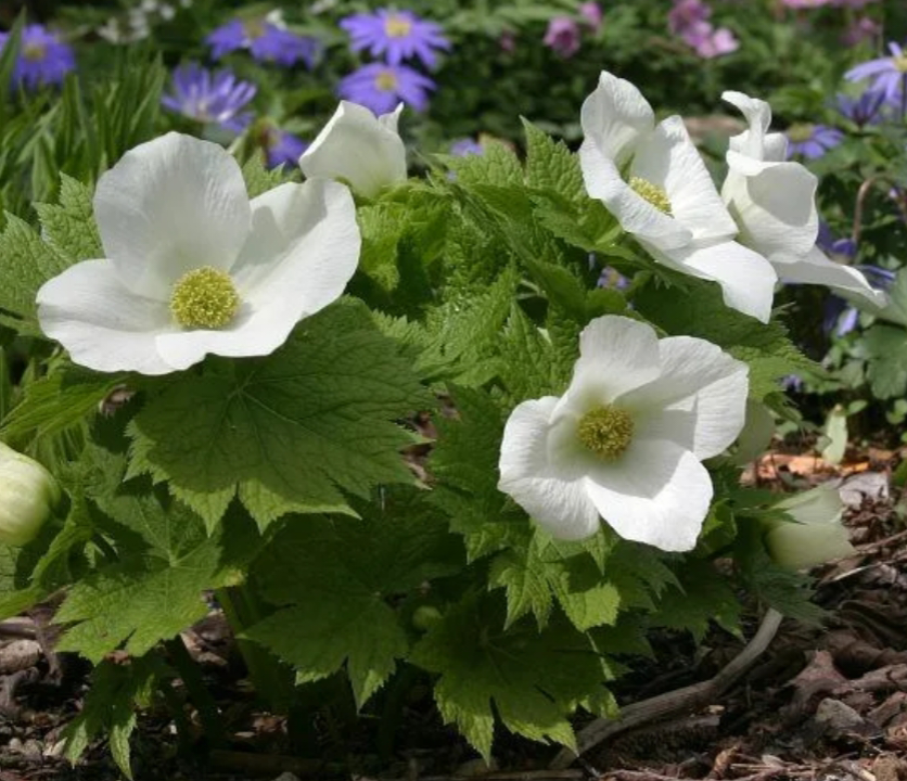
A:
{"type": "Polygon", "coordinates": [[[340,26],[349,34],[353,51],[368,49],[372,56],[384,55],[389,65],[416,56],[433,67],[434,50],[450,49],[440,25],[421,20],[411,11],[379,9],[373,14],[347,16],[341,20],[340,26]]]}

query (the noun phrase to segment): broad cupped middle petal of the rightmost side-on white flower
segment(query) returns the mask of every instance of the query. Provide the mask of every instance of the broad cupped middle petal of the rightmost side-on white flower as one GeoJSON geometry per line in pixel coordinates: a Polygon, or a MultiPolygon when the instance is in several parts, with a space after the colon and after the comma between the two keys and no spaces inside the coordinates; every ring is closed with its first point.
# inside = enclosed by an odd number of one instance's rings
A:
{"type": "Polygon", "coordinates": [[[728,152],[721,190],[740,242],[763,255],[803,255],[816,243],[816,177],[800,163],[761,163],[728,152]]]}

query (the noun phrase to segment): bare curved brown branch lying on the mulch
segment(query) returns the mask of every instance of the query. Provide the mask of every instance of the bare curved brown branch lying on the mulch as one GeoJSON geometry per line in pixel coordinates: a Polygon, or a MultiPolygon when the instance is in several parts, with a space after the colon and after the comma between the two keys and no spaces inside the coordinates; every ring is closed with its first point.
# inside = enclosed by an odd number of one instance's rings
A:
{"type": "Polygon", "coordinates": [[[778,611],[769,609],[753,639],[714,678],[627,705],[621,708],[621,715],[616,719],[596,719],[576,735],[577,753],[564,748],[548,767],[552,770],[563,770],[570,767],[577,756],[619,732],[711,704],[768,648],[782,618],[778,611]]]}

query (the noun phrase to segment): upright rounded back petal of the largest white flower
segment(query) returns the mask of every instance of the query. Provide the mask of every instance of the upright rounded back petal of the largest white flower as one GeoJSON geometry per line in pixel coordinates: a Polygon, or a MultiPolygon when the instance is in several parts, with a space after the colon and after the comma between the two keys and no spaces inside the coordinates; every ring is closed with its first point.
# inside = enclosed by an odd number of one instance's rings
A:
{"type": "Polygon", "coordinates": [[[230,268],[251,212],[230,154],[170,132],[127,152],[101,177],[94,216],[123,283],[138,295],[167,300],[187,271],[230,268]]]}

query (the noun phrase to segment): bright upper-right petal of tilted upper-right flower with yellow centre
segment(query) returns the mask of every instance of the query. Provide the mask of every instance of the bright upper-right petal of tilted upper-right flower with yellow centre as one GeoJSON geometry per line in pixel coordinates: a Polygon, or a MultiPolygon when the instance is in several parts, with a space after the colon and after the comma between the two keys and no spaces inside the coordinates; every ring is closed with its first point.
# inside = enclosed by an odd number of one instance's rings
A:
{"type": "Polygon", "coordinates": [[[737,225],[680,117],[668,117],[642,139],[630,172],[667,192],[674,219],[691,231],[693,241],[737,234],[737,225]]]}

